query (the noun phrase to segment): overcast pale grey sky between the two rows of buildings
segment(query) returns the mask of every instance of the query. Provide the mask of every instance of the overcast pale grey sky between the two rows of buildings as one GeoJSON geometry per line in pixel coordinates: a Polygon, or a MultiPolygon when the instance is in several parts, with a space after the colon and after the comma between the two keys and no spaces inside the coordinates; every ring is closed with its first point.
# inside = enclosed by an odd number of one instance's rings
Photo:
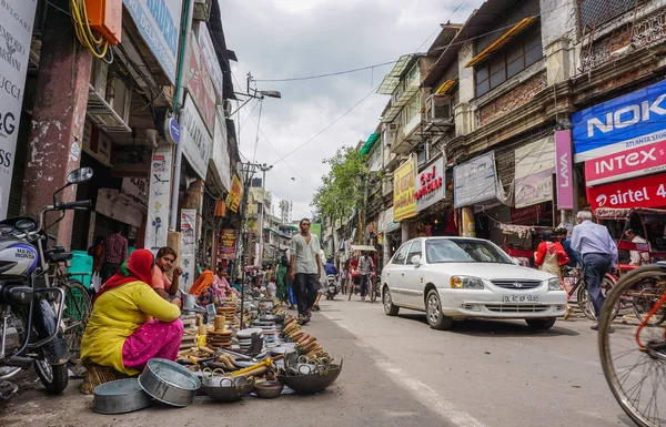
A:
{"type": "MultiPolygon", "coordinates": [[[[225,0],[221,2],[226,45],[239,58],[232,63],[236,91],[245,92],[248,72],[258,79],[286,79],[344,71],[414,52],[446,22],[464,22],[483,0],[225,0]],[[240,84],[240,88],[238,87],[240,84]]],[[[423,44],[426,50],[432,41],[423,44]]],[[[339,77],[296,82],[258,82],[282,99],[263,102],[255,160],[274,164],[266,174],[278,200],[293,201],[292,217],[311,216],[322,160],[343,145],[355,145],[374,132],[389,96],[371,94],[351,113],[316,135],[375,88],[392,65],[339,77]],[[265,135],[265,138],[264,138],[265,135]],[[268,138],[268,140],[266,140],[268,138]],[[270,140],[270,142],[269,142],[270,140]],[[272,145],[272,146],[271,146],[272,145]],[[294,179],[294,180],[292,180],[294,179]]],[[[235,116],[241,153],[252,160],[259,108],[248,103],[235,116]],[[250,114],[252,112],[252,114],[250,114]]]]}

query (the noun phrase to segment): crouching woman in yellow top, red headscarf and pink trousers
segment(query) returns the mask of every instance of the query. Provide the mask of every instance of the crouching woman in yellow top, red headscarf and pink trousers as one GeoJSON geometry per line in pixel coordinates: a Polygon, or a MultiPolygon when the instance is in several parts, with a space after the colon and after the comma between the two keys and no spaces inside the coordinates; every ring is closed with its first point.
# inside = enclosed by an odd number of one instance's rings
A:
{"type": "MultiPolygon", "coordinates": [[[[150,287],[154,257],[137,250],[94,297],[81,360],[137,375],[148,360],[175,360],[183,336],[180,309],[150,287]]],[[[178,302],[175,302],[178,303],[178,302]]]]}

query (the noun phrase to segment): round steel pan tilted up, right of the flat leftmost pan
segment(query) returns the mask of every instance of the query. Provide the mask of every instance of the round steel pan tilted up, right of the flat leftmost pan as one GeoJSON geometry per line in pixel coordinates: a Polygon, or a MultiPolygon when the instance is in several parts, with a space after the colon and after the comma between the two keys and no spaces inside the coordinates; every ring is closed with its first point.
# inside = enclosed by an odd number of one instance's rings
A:
{"type": "Polygon", "coordinates": [[[175,407],[192,405],[201,380],[188,368],[163,358],[148,360],[139,385],[154,399],[175,407]]]}

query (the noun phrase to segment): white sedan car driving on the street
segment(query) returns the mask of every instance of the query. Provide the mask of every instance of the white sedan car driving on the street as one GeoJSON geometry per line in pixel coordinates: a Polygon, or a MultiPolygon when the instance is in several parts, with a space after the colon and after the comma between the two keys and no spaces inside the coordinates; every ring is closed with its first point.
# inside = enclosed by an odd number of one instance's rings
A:
{"type": "Polygon", "coordinates": [[[494,243],[467,237],[418,237],[404,243],[382,271],[389,316],[401,307],[426,313],[435,329],[454,319],[519,318],[549,329],[566,313],[558,277],[522,267],[494,243]]]}

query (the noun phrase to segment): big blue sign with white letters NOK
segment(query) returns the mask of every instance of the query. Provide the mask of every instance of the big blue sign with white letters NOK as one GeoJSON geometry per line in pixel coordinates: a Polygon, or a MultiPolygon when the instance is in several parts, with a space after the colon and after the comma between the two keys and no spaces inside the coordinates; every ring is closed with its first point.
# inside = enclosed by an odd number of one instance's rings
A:
{"type": "MultiPolygon", "coordinates": [[[[632,162],[649,162],[649,157],[639,153],[634,156],[634,150],[666,140],[666,81],[576,112],[572,114],[572,121],[576,162],[612,154],[624,156],[614,160],[613,164],[608,163],[608,167],[613,169],[599,169],[604,176],[625,172],[623,167],[626,164],[623,162],[628,155],[633,155],[632,162]]],[[[606,161],[609,162],[608,159],[606,161]]],[[[593,170],[596,172],[596,166],[593,170]]]]}

